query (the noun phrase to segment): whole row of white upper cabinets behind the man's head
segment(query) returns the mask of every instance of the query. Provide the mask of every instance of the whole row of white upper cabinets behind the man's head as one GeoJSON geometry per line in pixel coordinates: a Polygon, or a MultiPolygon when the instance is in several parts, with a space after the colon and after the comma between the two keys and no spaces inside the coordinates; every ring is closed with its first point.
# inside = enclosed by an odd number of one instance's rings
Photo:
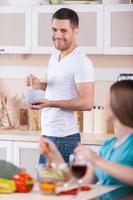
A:
{"type": "Polygon", "coordinates": [[[133,54],[133,4],[0,6],[0,53],[52,53],[51,18],[79,15],[78,45],[87,54],[133,54]]]}

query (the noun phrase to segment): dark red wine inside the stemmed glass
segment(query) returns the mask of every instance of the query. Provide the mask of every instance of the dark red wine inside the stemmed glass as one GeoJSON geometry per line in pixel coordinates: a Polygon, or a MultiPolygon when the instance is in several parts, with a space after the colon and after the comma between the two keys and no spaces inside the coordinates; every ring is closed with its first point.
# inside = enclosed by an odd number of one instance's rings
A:
{"type": "Polygon", "coordinates": [[[72,165],[71,170],[72,170],[73,175],[76,178],[80,179],[85,175],[87,171],[87,166],[86,165],[72,165]]]}

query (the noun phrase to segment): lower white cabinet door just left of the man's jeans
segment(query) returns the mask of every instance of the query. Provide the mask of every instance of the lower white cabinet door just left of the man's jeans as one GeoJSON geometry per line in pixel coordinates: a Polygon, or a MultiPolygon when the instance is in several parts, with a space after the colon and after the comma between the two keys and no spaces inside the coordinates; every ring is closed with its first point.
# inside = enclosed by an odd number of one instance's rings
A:
{"type": "Polygon", "coordinates": [[[14,142],[13,163],[26,169],[36,178],[36,167],[39,158],[38,142],[14,142]]]}

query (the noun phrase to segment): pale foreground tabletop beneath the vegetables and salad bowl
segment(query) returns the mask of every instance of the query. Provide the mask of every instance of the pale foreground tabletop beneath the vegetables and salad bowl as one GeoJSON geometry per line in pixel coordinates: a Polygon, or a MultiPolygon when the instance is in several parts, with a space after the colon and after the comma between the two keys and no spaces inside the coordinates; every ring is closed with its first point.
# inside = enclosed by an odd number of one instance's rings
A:
{"type": "MultiPolygon", "coordinates": [[[[92,190],[87,191],[87,192],[80,192],[78,194],[78,199],[82,200],[89,200],[92,198],[95,198],[101,194],[104,194],[106,192],[112,191],[117,186],[92,186],[92,190]]],[[[0,200],[74,200],[73,195],[61,195],[61,196],[56,196],[56,195],[43,195],[40,191],[38,186],[34,188],[34,190],[30,193],[12,193],[12,194],[0,194],[0,200]]]]}

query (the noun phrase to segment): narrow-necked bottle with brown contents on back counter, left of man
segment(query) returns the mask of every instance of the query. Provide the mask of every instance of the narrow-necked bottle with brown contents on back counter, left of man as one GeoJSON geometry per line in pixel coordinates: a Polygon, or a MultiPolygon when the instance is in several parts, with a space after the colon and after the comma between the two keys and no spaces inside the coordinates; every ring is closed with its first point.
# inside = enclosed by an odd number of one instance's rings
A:
{"type": "Polygon", "coordinates": [[[29,109],[24,98],[22,99],[22,105],[19,108],[19,128],[21,130],[29,129],[29,109]]]}

